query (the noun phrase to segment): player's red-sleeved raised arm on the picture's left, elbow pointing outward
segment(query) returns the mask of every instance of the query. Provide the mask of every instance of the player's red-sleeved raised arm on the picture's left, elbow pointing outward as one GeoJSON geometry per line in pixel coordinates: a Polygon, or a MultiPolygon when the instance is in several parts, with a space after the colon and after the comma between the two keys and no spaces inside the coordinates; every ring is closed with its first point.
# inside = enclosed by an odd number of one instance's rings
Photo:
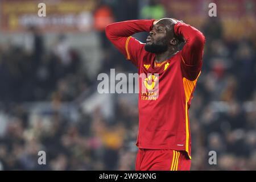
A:
{"type": "Polygon", "coordinates": [[[149,32],[154,20],[128,20],[106,26],[106,36],[114,46],[138,67],[138,56],[144,44],[131,35],[149,32]]]}

